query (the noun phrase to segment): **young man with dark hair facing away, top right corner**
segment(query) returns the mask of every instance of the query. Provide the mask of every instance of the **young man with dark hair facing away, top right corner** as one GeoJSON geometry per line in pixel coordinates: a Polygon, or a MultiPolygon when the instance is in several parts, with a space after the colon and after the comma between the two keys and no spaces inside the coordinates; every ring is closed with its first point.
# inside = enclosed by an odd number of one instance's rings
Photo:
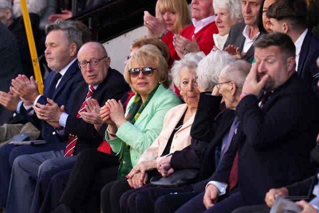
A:
{"type": "Polygon", "coordinates": [[[267,9],[272,30],[286,33],[296,46],[296,71],[304,81],[312,86],[319,97],[317,80],[319,73],[316,60],[319,56],[319,37],[306,27],[308,10],[304,0],[280,0],[267,9]]]}

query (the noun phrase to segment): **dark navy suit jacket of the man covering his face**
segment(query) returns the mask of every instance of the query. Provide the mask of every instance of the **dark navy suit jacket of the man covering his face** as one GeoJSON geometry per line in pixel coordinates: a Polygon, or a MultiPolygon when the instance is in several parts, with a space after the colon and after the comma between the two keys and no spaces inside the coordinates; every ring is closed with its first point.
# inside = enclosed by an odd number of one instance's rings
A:
{"type": "Polygon", "coordinates": [[[310,152],[319,131],[319,103],[294,73],[258,107],[256,96],[243,98],[236,115],[240,124],[210,181],[228,183],[238,150],[238,187],[246,205],[264,203],[271,188],[303,180],[316,171],[310,152]]]}

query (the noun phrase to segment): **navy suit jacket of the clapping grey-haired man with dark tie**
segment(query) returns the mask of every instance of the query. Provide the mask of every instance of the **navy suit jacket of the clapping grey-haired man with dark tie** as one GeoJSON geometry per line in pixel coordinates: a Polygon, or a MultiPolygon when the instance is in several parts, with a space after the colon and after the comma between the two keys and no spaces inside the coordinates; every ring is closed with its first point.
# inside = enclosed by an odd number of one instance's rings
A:
{"type": "MultiPolygon", "coordinates": [[[[43,87],[43,95],[38,99],[38,103],[42,105],[47,104],[46,98],[50,93],[49,90],[51,88],[52,80],[55,74],[56,72],[51,71],[46,77],[43,87]]],[[[52,97],[48,98],[53,100],[59,106],[64,105],[65,112],[69,114],[72,108],[72,100],[74,97],[75,88],[81,82],[83,82],[83,77],[78,67],[77,60],[75,60],[61,78],[60,83],[52,94],[52,97]]],[[[41,137],[46,140],[46,146],[52,149],[61,147],[59,138],[56,135],[52,135],[54,132],[54,127],[49,125],[46,121],[38,119],[35,113],[33,113],[31,116],[28,115],[28,112],[22,105],[20,107],[20,113],[24,113],[28,120],[41,131],[41,137]]]]}

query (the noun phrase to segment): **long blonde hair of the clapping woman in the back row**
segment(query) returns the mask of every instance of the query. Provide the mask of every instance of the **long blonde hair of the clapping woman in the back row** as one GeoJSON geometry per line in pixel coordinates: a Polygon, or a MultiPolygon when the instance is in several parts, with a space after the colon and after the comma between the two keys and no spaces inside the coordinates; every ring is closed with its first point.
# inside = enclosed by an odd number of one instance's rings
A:
{"type": "Polygon", "coordinates": [[[179,33],[182,28],[191,23],[186,0],[158,0],[156,2],[155,11],[157,11],[158,8],[160,12],[176,12],[176,21],[174,23],[175,33],[179,33]]]}

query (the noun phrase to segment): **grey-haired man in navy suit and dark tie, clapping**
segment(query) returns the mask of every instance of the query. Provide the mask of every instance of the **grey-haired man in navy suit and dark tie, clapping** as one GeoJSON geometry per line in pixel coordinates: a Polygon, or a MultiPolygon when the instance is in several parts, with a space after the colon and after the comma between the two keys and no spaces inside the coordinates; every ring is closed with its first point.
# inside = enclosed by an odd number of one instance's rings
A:
{"type": "Polygon", "coordinates": [[[28,120],[41,131],[40,136],[46,140],[46,144],[39,146],[5,144],[0,148],[0,206],[6,205],[11,167],[17,156],[63,149],[65,146],[57,134],[52,134],[55,132],[54,127],[37,118],[32,105],[36,103],[46,105],[48,97],[59,106],[64,105],[65,111],[70,112],[75,88],[83,81],[76,58],[78,49],[82,45],[81,31],[72,21],[58,20],[46,26],[46,34],[45,58],[48,66],[54,71],[48,74],[44,82],[44,94],[39,94],[33,77],[28,79],[24,75],[18,75],[11,83],[14,93],[23,100],[18,105],[17,112],[26,115],[28,120]]]}

